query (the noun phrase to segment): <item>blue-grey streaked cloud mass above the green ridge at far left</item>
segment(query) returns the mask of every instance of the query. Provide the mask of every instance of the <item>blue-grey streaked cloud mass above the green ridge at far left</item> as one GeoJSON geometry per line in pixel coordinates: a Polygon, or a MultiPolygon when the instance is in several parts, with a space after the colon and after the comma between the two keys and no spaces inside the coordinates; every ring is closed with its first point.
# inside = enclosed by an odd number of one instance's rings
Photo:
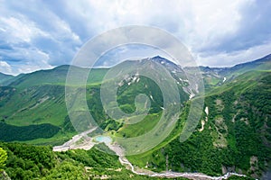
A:
{"type": "Polygon", "coordinates": [[[74,46],[82,43],[70,24],[45,6],[41,11],[41,2],[29,4],[29,7],[9,3],[0,7],[0,58],[12,67],[9,73],[68,64],[75,53],[74,46]]]}

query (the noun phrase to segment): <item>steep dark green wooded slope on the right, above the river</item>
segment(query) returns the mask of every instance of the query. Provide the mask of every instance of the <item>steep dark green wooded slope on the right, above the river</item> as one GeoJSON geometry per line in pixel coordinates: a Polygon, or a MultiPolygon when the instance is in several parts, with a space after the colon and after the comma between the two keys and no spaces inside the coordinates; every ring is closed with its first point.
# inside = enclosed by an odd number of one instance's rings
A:
{"type": "MultiPolygon", "coordinates": [[[[169,168],[174,171],[219,175],[222,166],[229,169],[236,166],[236,171],[239,169],[244,174],[260,175],[266,169],[265,162],[271,160],[268,148],[271,142],[271,124],[268,121],[271,112],[270,77],[270,71],[253,71],[213,90],[205,99],[210,115],[203,131],[199,131],[199,123],[197,130],[185,142],[180,143],[178,136],[176,139],[165,139],[160,148],[128,157],[129,160],[137,166],[147,165],[162,171],[168,156],[169,168]],[[218,99],[222,110],[217,104],[218,99]],[[255,170],[251,170],[249,164],[253,156],[258,158],[255,170]]],[[[205,116],[203,113],[202,120],[205,116]]],[[[180,121],[182,123],[182,118],[180,121]]]]}

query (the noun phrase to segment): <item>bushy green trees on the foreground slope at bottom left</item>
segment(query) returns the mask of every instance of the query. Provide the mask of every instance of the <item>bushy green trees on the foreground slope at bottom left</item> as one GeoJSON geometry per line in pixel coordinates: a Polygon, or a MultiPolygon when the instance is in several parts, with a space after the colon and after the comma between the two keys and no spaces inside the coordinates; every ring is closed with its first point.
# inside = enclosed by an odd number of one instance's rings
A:
{"type": "Polygon", "coordinates": [[[157,179],[131,173],[119,163],[117,156],[95,147],[66,152],[19,143],[0,142],[0,147],[7,152],[4,170],[12,179],[157,179]]]}

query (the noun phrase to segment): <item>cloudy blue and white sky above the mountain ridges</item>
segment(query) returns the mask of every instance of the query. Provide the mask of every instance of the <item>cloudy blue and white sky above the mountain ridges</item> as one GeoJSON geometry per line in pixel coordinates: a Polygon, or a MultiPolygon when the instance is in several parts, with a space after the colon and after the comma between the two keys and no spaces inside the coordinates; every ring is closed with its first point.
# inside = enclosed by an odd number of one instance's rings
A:
{"type": "MultiPolygon", "coordinates": [[[[88,40],[126,25],[168,31],[201,66],[229,67],[271,53],[269,0],[0,0],[0,4],[0,72],[5,74],[70,64],[88,40]]],[[[122,53],[128,57],[156,52],[135,46],[117,50],[99,65],[114,65],[117,60],[112,59],[122,53]]]]}

